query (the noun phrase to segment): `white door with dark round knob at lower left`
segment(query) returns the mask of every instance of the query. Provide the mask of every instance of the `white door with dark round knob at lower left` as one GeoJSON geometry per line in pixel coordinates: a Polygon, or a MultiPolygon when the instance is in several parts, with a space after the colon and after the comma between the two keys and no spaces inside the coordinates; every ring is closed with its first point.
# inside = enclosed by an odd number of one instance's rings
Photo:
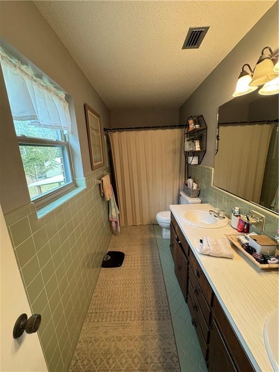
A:
{"type": "Polygon", "coordinates": [[[31,316],[16,257],[0,206],[0,371],[47,372],[37,333],[13,338],[20,314],[31,316]]]}

